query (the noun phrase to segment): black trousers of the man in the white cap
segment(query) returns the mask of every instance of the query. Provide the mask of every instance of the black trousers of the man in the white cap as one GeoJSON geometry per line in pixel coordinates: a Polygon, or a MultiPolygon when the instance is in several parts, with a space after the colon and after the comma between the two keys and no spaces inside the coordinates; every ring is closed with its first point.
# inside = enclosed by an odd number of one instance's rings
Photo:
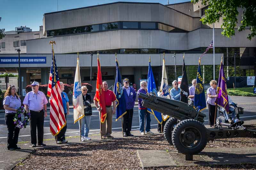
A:
{"type": "Polygon", "coordinates": [[[44,140],[44,110],[40,112],[35,112],[30,110],[30,136],[31,144],[36,144],[36,128],[38,144],[42,144],[44,140]]]}

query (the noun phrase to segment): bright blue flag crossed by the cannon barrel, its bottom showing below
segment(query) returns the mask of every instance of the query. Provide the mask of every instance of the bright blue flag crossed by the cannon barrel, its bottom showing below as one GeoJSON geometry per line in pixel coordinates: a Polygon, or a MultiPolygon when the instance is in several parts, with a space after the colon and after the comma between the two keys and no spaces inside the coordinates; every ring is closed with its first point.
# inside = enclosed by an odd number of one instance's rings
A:
{"type": "MultiPolygon", "coordinates": [[[[150,92],[153,92],[157,96],[156,83],[155,83],[153,71],[151,69],[150,57],[149,57],[149,63],[148,63],[148,93],[150,93],[150,92]]],[[[162,114],[155,111],[155,110],[152,110],[150,108],[147,108],[147,109],[148,109],[149,113],[151,113],[155,116],[157,122],[162,124],[162,114]]]]}

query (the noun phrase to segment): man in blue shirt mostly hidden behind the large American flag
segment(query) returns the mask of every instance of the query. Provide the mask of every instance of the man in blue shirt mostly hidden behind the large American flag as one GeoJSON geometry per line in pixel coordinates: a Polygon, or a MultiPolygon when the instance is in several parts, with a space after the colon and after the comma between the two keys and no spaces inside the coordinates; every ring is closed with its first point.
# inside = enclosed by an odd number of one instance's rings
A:
{"type": "MultiPolygon", "coordinates": [[[[61,98],[62,98],[62,104],[63,104],[63,110],[65,113],[65,119],[66,119],[66,125],[60,130],[60,132],[57,135],[57,144],[63,144],[67,143],[68,141],[65,138],[65,133],[67,130],[67,115],[69,115],[69,104],[68,104],[68,95],[64,91],[64,84],[60,82],[60,90],[61,90],[61,98]]],[[[51,98],[49,99],[50,103],[51,98]]],[[[55,136],[56,140],[56,136],[55,136]]]]}

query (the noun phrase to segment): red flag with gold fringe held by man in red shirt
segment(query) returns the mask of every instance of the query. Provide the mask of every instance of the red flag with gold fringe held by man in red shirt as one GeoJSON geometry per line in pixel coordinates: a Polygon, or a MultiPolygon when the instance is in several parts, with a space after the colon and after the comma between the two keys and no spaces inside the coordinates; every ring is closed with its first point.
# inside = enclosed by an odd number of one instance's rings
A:
{"type": "Polygon", "coordinates": [[[102,77],[101,77],[99,57],[98,57],[98,74],[97,74],[97,83],[96,83],[96,94],[95,94],[93,100],[97,100],[100,103],[100,107],[101,107],[100,122],[104,123],[106,116],[107,116],[107,112],[106,112],[105,97],[104,97],[103,86],[102,86],[102,77]]]}

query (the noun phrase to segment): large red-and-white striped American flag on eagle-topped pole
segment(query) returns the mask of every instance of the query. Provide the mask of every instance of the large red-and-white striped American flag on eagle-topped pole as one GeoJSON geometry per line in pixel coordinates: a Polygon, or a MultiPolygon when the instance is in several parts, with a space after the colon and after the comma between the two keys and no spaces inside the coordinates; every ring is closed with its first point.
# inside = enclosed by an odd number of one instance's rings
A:
{"type": "Polygon", "coordinates": [[[61,98],[60,80],[57,65],[52,47],[52,66],[49,77],[47,96],[51,97],[50,102],[50,131],[53,136],[58,135],[60,130],[66,125],[63,103],[61,98]]]}

